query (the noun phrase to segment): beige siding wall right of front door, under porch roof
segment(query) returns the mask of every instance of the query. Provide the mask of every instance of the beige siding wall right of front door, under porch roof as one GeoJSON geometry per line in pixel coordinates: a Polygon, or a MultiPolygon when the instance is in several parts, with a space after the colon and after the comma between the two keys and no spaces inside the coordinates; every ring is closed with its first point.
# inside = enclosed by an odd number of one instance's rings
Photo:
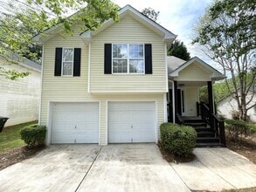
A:
{"type": "Polygon", "coordinates": [[[186,87],[185,89],[185,111],[186,116],[197,116],[198,92],[196,86],[186,87]]]}

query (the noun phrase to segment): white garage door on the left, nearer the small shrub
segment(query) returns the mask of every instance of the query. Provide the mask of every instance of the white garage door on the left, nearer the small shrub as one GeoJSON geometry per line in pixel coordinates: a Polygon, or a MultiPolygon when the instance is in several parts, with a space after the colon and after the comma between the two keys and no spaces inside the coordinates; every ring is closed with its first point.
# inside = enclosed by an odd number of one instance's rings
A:
{"type": "Polygon", "coordinates": [[[98,142],[98,103],[52,104],[52,143],[98,142]]]}

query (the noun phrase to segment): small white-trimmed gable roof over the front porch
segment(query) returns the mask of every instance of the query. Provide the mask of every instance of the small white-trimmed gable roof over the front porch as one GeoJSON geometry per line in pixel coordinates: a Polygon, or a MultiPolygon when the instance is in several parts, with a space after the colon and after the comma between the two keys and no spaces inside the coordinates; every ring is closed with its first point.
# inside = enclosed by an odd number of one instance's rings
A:
{"type": "MultiPolygon", "coordinates": [[[[189,61],[184,62],[182,65],[180,65],[181,64],[181,61],[180,61],[179,66],[174,71],[169,72],[169,77],[172,77],[172,78],[178,77],[179,72],[181,72],[188,65],[191,65],[195,62],[197,62],[199,65],[202,65],[206,70],[211,72],[211,79],[215,79],[215,80],[225,79],[225,76],[221,72],[218,72],[218,70],[214,69],[213,67],[211,67],[211,65],[206,64],[202,59],[197,57],[191,58],[189,61]]],[[[168,65],[173,65],[173,64],[170,63],[168,65]]],[[[171,69],[174,67],[170,66],[169,68],[171,69]]]]}

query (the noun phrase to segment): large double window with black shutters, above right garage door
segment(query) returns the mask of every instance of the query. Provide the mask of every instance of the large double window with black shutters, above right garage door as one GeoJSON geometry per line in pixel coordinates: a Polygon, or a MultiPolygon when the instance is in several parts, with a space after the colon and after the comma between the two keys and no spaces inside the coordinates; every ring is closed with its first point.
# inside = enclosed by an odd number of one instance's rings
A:
{"type": "Polygon", "coordinates": [[[145,73],[144,45],[113,45],[113,73],[145,73]]]}

